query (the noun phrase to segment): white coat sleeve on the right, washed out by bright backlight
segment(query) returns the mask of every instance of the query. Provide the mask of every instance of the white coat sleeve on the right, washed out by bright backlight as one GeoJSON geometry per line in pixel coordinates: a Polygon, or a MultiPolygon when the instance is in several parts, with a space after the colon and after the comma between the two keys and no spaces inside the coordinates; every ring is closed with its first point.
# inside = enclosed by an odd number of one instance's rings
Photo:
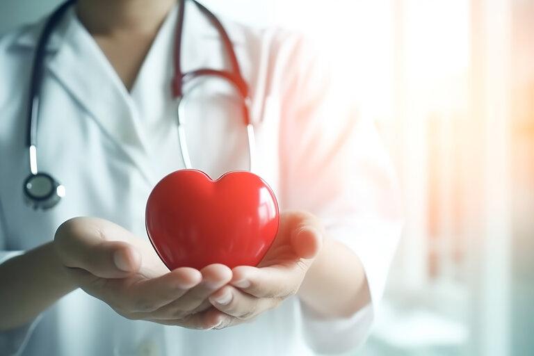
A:
{"type": "Polygon", "coordinates": [[[292,67],[298,77],[282,108],[282,209],[321,218],[327,235],[362,262],[371,293],[371,305],[347,319],[316,318],[303,306],[309,345],[341,352],[369,334],[401,234],[400,195],[375,125],[334,85],[328,63],[302,44],[292,67]]]}

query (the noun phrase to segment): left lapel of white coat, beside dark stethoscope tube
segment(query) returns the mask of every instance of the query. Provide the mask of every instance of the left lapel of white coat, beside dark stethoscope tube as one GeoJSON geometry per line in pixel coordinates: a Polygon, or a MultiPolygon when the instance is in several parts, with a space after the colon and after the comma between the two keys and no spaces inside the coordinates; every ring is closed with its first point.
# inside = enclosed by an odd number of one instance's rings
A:
{"type": "Polygon", "coordinates": [[[65,90],[89,113],[104,133],[138,167],[149,184],[149,170],[142,131],[135,120],[129,94],[98,44],[76,18],[74,9],[62,44],[49,61],[48,69],[65,90]]]}

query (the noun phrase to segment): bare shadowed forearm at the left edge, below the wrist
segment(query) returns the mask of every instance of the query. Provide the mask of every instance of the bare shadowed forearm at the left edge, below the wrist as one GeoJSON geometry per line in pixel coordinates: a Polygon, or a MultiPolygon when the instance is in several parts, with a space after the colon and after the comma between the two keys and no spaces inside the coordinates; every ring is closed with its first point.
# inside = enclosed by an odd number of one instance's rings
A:
{"type": "Polygon", "coordinates": [[[31,321],[75,288],[52,243],[0,264],[0,330],[31,321]]]}

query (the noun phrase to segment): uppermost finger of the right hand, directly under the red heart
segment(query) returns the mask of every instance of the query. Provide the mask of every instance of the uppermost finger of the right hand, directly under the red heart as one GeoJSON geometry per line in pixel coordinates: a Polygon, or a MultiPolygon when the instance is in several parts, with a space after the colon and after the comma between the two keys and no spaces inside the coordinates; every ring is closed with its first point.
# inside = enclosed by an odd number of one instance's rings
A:
{"type": "Polygon", "coordinates": [[[298,291],[306,268],[300,261],[263,268],[238,266],[230,284],[257,298],[282,298],[298,291]]]}

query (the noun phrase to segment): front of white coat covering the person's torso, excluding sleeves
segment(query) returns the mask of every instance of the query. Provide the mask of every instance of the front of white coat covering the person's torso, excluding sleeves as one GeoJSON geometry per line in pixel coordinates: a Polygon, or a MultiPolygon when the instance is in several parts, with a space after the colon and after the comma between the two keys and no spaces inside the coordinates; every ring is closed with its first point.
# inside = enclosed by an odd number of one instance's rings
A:
{"type": "MultiPolygon", "coordinates": [[[[193,6],[188,6],[188,16],[192,18],[184,33],[184,69],[225,67],[216,31],[193,6]]],[[[150,191],[164,175],[184,168],[177,103],[170,97],[172,69],[166,65],[172,57],[162,60],[157,53],[149,54],[156,58],[147,58],[152,62],[144,64],[128,95],[121,92],[111,67],[102,65],[103,55],[96,44],[81,41],[88,34],[76,26],[79,23],[74,19],[66,19],[56,30],[60,35],[53,40],[55,48],[47,56],[42,82],[38,168],[66,188],[63,200],[47,211],[31,209],[22,195],[23,181],[30,172],[26,114],[31,44],[41,26],[0,40],[0,203],[8,250],[28,250],[50,241],[57,227],[74,216],[106,218],[146,238],[145,203],[150,191]],[[152,78],[154,71],[156,78],[168,79],[152,78]]],[[[277,72],[282,72],[284,64],[273,59],[273,50],[280,50],[275,48],[277,35],[237,25],[229,34],[235,38],[252,92],[254,172],[278,193],[281,104],[277,72]]],[[[164,39],[158,40],[159,45],[166,45],[164,39]]],[[[218,81],[186,89],[193,90],[186,118],[193,167],[212,178],[228,170],[247,170],[246,131],[236,95],[218,81]]],[[[238,351],[304,355],[299,315],[299,302],[292,298],[253,323],[220,331],[184,330],[128,321],[78,290],[44,313],[24,355],[235,355],[238,351]]]]}

